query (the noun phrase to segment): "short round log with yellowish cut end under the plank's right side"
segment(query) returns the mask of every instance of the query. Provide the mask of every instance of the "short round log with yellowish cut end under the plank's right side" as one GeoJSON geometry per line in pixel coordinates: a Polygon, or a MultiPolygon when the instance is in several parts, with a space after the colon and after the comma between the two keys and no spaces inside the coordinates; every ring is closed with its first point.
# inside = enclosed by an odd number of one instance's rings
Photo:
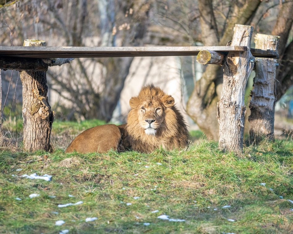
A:
{"type": "Polygon", "coordinates": [[[225,54],[213,50],[200,50],[196,56],[196,62],[200,64],[218,64],[223,65],[225,54]]]}

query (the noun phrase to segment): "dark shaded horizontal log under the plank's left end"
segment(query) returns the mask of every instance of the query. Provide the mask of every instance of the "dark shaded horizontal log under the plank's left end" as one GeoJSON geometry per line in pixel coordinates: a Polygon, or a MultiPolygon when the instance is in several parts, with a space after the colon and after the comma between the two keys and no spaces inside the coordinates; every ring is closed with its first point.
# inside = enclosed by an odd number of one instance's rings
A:
{"type": "Polygon", "coordinates": [[[19,58],[6,57],[0,58],[0,69],[17,71],[47,71],[48,66],[61,66],[70,63],[74,58],[19,58]]]}

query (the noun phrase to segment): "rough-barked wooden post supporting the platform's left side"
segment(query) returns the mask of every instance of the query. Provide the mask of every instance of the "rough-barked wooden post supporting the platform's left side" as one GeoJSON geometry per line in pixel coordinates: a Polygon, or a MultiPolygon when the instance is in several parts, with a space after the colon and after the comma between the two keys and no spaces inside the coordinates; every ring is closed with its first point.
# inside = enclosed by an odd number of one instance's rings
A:
{"type": "MultiPolygon", "coordinates": [[[[46,42],[25,40],[23,46],[46,46],[46,42]]],[[[49,151],[54,111],[48,103],[46,72],[22,71],[20,79],[23,85],[23,149],[49,151]]]]}

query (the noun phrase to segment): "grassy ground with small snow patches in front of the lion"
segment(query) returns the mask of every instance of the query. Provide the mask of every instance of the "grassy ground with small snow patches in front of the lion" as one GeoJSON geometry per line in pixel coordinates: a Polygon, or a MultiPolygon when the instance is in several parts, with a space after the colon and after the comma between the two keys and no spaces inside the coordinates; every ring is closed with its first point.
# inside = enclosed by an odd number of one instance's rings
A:
{"type": "Polygon", "coordinates": [[[292,156],[292,141],[241,157],[207,140],[151,154],[1,151],[0,233],[293,233],[292,156]],[[21,177],[32,173],[52,180],[21,177]]]}

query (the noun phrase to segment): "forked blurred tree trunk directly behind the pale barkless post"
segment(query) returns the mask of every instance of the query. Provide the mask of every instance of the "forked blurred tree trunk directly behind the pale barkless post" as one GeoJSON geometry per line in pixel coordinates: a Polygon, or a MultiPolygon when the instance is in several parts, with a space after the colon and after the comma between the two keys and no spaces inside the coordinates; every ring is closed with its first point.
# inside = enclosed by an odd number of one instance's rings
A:
{"type": "MultiPolygon", "coordinates": [[[[233,36],[235,24],[247,24],[261,0],[230,1],[231,11],[227,15],[225,30],[217,35],[217,25],[214,21],[211,1],[198,0],[200,9],[200,26],[204,32],[202,42],[205,46],[225,46],[233,36]],[[204,11],[202,11],[204,10],[204,11]],[[209,15],[208,15],[209,14],[209,15]]],[[[217,102],[220,100],[223,82],[221,66],[206,65],[206,70],[200,80],[194,85],[194,90],[187,103],[188,115],[197,123],[207,137],[219,139],[219,125],[217,122],[217,102]]]]}

